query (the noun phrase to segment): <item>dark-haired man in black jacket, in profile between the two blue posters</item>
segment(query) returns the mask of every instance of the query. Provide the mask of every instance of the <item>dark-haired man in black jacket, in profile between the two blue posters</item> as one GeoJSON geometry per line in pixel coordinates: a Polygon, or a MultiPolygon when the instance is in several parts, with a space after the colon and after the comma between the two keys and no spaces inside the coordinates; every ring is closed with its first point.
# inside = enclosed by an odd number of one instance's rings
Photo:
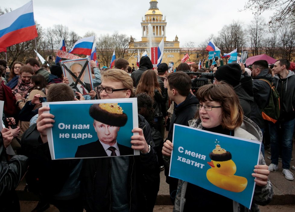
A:
{"type": "MultiPolygon", "coordinates": [[[[195,117],[197,111],[198,99],[190,94],[192,81],[188,74],[184,72],[175,72],[167,77],[168,96],[173,101],[174,111],[170,121],[168,136],[165,142],[172,142],[173,125],[181,124],[189,126],[188,121],[195,117]]],[[[169,145],[164,143],[163,149],[169,145]]],[[[163,151],[162,151],[163,153],[163,151]]],[[[168,176],[170,158],[164,157],[166,182],[169,184],[170,199],[174,204],[178,179],[168,176]]]]}

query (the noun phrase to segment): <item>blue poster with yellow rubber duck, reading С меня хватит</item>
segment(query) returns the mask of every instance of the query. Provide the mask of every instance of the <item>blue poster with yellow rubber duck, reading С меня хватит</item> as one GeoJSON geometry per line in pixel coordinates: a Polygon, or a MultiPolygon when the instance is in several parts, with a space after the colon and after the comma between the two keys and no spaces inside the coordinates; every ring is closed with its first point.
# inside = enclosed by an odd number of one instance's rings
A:
{"type": "Polygon", "coordinates": [[[169,176],[250,207],[260,142],[174,125],[169,176]]]}

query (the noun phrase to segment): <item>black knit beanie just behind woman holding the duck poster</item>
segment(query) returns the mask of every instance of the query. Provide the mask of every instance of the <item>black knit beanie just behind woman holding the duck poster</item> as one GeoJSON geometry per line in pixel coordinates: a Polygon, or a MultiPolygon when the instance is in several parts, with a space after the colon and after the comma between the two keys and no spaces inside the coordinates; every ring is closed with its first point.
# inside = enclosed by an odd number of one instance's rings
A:
{"type": "Polygon", "coordinates": [[[218,81],[225,81],[231,86],[239,85],[241,81],[242,69],[239,64],[232,63],[220,66],[215,72],[215,79],[218,81]]]}

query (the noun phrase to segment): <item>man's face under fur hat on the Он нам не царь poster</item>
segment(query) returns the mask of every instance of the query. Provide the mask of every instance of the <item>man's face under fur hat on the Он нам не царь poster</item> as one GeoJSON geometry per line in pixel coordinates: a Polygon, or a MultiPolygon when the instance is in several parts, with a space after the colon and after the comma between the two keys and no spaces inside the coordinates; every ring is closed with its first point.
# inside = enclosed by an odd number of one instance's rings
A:
{"type": "Polygon", "coordinates": [[[97,120],[94,120],[93,126],[97,133],[97,137],[101,142],[110,146],[113,146],[116,143],[120,127],[107,125],[97,120]]]}

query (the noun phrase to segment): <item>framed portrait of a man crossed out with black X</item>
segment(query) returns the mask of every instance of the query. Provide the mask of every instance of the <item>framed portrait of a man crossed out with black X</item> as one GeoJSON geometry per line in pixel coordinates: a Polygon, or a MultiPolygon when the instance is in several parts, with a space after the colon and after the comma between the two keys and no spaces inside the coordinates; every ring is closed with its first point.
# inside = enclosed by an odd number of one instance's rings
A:
{"type": "Polygon", "coordinates": [[[90,58],[60,61],[64,76],[68,78],[69,86],[82,95],[93,90],[90,58]]]}

